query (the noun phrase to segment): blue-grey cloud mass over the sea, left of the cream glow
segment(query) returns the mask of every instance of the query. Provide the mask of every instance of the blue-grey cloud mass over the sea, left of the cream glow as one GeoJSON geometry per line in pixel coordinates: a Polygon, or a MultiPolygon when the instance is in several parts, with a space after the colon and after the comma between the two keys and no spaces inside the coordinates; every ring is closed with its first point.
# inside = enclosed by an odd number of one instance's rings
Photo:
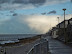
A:
{"type": "Polygon", "coordinates": [[[25,15],[11,16],[10,20],[3,18],[0,25],[0,34],[36,34],[37,32],[31,30],[27,23],[22,22],[22,19],[25,18],[25,15]]]}

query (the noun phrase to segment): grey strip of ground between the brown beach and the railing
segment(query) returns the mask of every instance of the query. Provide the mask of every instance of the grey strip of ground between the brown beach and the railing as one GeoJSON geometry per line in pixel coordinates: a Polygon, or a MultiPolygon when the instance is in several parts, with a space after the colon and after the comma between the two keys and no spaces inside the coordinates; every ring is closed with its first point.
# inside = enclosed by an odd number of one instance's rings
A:
{"type": "MultiPolygon", "coordinates": [[[[13,46],[13,47],[5,47],[6,48],[6,54],[27,54],[28,51],[37,43],[40,42],[40,39],[37,39],[36,41],[33,41],[32,43],[27,43],[20,46],[13,46]]],[[[0,49],[1,51],[1,49],[0,49]]],[[[1,53],[1,52],[0,52],[1,53]]],[[[4,53],[2,53],[4,54],[4,53]]]]}

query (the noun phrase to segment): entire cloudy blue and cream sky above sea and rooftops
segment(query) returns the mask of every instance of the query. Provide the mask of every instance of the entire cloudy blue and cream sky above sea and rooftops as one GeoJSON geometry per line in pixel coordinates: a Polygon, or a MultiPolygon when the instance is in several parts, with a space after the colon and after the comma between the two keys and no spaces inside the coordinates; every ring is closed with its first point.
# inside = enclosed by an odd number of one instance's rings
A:
{"type": "Polygon", "coordinates": [[[44,34],[72,18],[72,0],[0,0],[0,34],[44,34]]]}

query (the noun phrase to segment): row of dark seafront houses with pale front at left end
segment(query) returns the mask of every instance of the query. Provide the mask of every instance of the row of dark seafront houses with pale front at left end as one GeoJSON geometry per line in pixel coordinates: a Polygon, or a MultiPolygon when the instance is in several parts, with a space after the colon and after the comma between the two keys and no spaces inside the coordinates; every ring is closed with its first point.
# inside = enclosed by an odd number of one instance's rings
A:
{"type": "Polygon", "coordinates": [[[57,24],[56,27],[52,28],[52,37],[57,38],[61,41],[65,41],[65,38],[68,42],[72,40],[72,18],[65,20],[65,36],[64,36],[64,21],[57,24]]]}

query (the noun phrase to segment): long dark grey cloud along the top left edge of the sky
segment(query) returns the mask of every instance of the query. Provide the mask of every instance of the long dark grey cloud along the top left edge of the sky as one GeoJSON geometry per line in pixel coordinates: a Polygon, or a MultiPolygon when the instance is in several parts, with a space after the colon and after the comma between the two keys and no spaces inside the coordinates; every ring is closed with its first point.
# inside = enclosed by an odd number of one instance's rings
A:
{"type": "Polygon", "coordinates": [[[0,0],[0,3],[19,3],[19,4],[38,4],[42,5],[45,3],[46,0],[0,0]]]}

